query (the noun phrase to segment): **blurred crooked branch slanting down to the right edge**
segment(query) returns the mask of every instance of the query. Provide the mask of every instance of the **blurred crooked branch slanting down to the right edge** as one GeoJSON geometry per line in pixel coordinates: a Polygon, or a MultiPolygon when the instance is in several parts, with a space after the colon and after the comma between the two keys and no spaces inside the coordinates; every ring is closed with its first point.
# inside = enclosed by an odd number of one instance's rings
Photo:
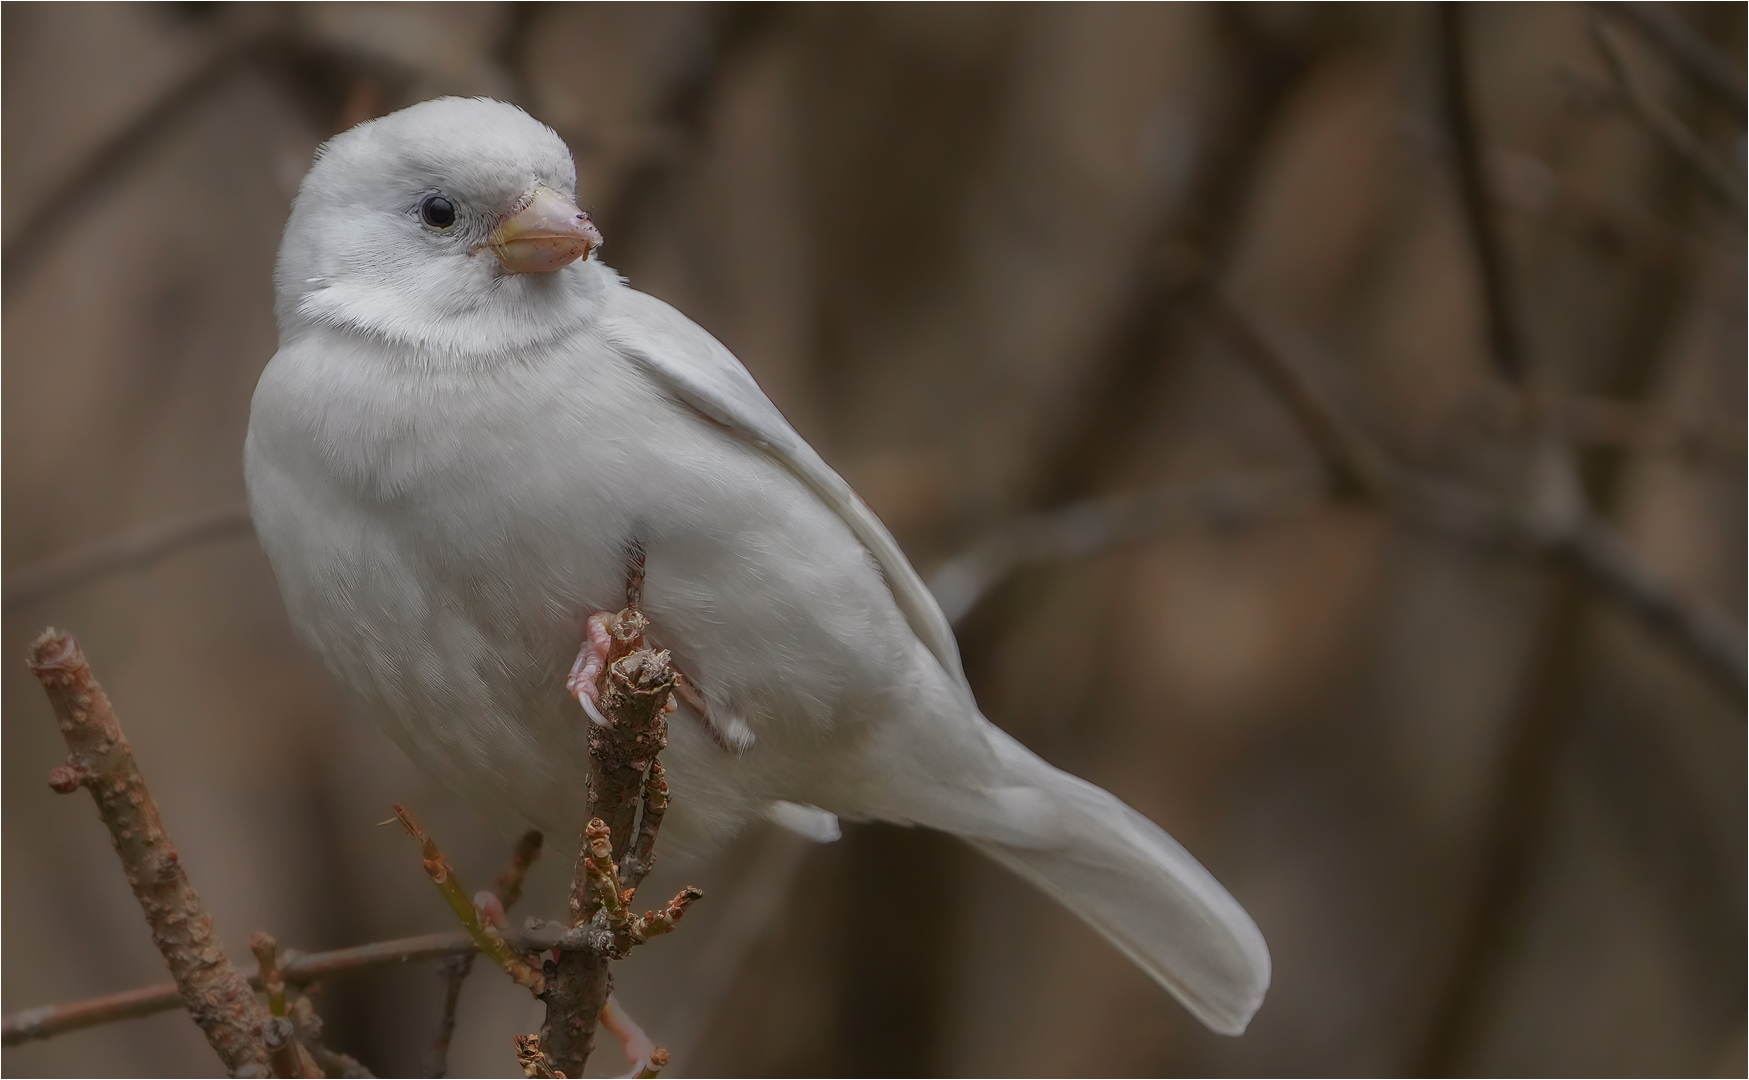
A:
{"type": "Polygon", "coordinates": [[[1744,632],[1716,604],[1684,595],[1653,571],[1620,532],[1593,511],[1541,501],[1508,504],[1390,459],[1348,422],[1298,364],[1289,361],[1230,299],[1210,289],[1205,308],[1312,438],[1333,473],[1355,478],[1347,492],[1404,522],[1467,543],[1574,565],[1592,590],[1693,662],[1730,700],[1749,697],[1744,632]]]}

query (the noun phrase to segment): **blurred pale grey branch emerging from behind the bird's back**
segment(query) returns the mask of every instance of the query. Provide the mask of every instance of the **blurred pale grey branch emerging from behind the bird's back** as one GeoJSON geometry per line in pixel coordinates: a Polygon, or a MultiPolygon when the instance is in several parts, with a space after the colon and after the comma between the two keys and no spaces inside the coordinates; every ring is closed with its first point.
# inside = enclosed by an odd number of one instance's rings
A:
{"type": "Polygon", "coordinates": [[[1186,525],[1219,529],[1286,516],[1327,490],[1322,476],[1270,471],[1088,499],[999,525],[941,564],[929,590],[948,621],[958,623],[1016,571],[1149,543],[1186,525]]]}

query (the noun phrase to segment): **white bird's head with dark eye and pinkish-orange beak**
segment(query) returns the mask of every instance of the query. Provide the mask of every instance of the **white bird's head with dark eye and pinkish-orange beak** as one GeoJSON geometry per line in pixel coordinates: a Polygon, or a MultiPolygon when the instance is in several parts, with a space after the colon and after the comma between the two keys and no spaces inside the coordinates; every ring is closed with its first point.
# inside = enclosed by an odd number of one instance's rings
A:
{"type": "Polygon", "coordinates": [[[283,334],[334,326],[444,354],[502,354],[588,319],[602,235],[563,140],[521,109],[437,98],[317,152],[285,226],[283,334]]]}

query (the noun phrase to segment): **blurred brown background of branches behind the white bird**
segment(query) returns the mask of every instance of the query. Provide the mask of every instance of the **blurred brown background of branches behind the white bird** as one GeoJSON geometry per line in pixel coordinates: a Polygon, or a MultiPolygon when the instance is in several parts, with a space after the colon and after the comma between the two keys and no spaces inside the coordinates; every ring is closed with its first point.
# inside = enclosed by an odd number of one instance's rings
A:
{"type": "MultiPolygon", "coordinates": [[[[390,802],[470,887],[504,861],[234,509],[311,154],[458,93],[567,138],[603,257],[950,571],[986,714],[1273,949],[1224,1040],[953,840],[756,831],[665,863],[707,898],[617,968],[673,1075],[1742,1075],[1744,12],[3,5],[5,1010],[164,978],[44,782],[44,625],[233,959],[449,928],[390,802]]],[[[429,1075],[441,994],[317,999],[429,1075]]],[[[476,971],[451,1071],[539,1017],[476,971]]],[[[166,1013],[0,1068],[219,1062],[166,1013]]]]}

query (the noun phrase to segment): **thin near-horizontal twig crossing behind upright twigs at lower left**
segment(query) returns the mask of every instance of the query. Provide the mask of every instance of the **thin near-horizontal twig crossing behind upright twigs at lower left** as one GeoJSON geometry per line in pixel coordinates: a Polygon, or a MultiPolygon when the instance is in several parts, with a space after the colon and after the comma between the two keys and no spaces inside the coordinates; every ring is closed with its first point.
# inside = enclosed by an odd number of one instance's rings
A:
{"type": "MultiPolygon", "coordinates": [[[[558,949],[565,943],[565,928],[544,924],[537,929],[505,929],[504,940],[518,952],[540,952],[558,949]]],[[[472,935],[465,931],[427,933],[413,938],[392,942],[373,942],[369,945],[352,945],[332,952],[294,954],[285,952],[280,959],[280,978],[287,985],[303,987],[324,978],[369,971],[373,968],[392,968],[399,964],[444,959],[451,956],[472,956],[479,947],[472,935]]],[[[241,973],[250,985],[262,989],[261,975],[255,970],[241,973]]],[[[182,992],[171,982],[147,985],[119,994],[103,994],[68,1005],[42,1005],[19,1010],[0,1020],[0,1047],[16,1047],[38,1038],[52,1038],[84,1027],[114,1024],[136,1017],[150,1017],[170,1012],[184,1005],[182,992]]],[[[292,1005],[296,1019],[297,1005],[292,1005]]]]}

